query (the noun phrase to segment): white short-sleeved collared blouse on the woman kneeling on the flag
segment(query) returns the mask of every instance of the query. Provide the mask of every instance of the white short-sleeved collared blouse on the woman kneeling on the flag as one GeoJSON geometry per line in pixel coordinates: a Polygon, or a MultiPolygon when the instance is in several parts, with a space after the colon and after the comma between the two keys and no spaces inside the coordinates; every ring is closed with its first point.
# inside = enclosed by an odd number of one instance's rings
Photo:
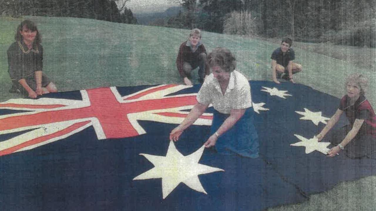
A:
{"type": "Polygon", "coordinates": [[[196,97],[203,105],[212,104],[220,113],[229,114],[231,109],[247,109],[252,107],[251,89],[244,75],[238,71],[230,73],[230,81],[224,95],[217,78],[208,75],[196,97]]]}

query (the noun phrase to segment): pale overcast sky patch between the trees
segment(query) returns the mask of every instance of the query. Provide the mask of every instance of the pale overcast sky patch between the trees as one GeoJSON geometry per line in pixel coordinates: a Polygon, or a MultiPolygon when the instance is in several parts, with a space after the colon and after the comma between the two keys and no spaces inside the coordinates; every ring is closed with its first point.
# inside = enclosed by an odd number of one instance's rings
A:
{"type": "Polygon", "coordinates": [[[159,12],[175,5],[168,0],[130,0],[127,2],[126,7],[131,9],[132,12],[159,12]]]}

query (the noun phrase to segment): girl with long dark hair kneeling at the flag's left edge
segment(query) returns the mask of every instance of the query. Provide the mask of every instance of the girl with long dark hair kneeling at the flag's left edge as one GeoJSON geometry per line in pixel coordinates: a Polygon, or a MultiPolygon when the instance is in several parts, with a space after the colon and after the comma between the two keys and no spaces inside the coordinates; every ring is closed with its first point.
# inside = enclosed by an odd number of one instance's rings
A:
{"type": "Polygon", "coordinates": [[[55,84],[42,73],[43,48],[36,25],[29,20],[22,21],[14,39],[16,42],[7,51],[8,72],[14,89],[30,98],[57,92],[55,84]]]}

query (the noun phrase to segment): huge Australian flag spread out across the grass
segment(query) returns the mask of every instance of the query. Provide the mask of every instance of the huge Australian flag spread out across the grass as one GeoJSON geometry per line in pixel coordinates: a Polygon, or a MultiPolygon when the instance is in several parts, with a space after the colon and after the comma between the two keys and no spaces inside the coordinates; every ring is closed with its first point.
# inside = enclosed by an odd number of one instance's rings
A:
{"type": "Polygon", "coordinates": [[[197,102],[199,84],[0,103],[0,210],[263,210],[375,174],[375,160],[290,146],[297,137],[312,139],[338,98],[300,84],[250,84],[257,159],[203,148],[212,107],[170,142],[170,131],[197,102]]]}

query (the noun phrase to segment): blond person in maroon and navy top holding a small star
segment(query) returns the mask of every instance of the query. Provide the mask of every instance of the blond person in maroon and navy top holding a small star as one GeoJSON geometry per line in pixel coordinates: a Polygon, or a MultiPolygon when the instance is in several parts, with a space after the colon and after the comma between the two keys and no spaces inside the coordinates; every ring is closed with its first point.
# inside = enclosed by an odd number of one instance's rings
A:
{"type": "Polygon", "coordinates": [[[350,125],[345,125],[332,134],[330,141],[337,146],[328,152],[329,157],[334,157],[341,149],[350,158],[375,157],[376,115],[364,96],[366,88],[367,79],[363,75],[355,73],[347,77],[347,94],[341,99],[337,112],[316,136],[321,141],[338,122],[341,114],[345,113],[350,125]]]}

